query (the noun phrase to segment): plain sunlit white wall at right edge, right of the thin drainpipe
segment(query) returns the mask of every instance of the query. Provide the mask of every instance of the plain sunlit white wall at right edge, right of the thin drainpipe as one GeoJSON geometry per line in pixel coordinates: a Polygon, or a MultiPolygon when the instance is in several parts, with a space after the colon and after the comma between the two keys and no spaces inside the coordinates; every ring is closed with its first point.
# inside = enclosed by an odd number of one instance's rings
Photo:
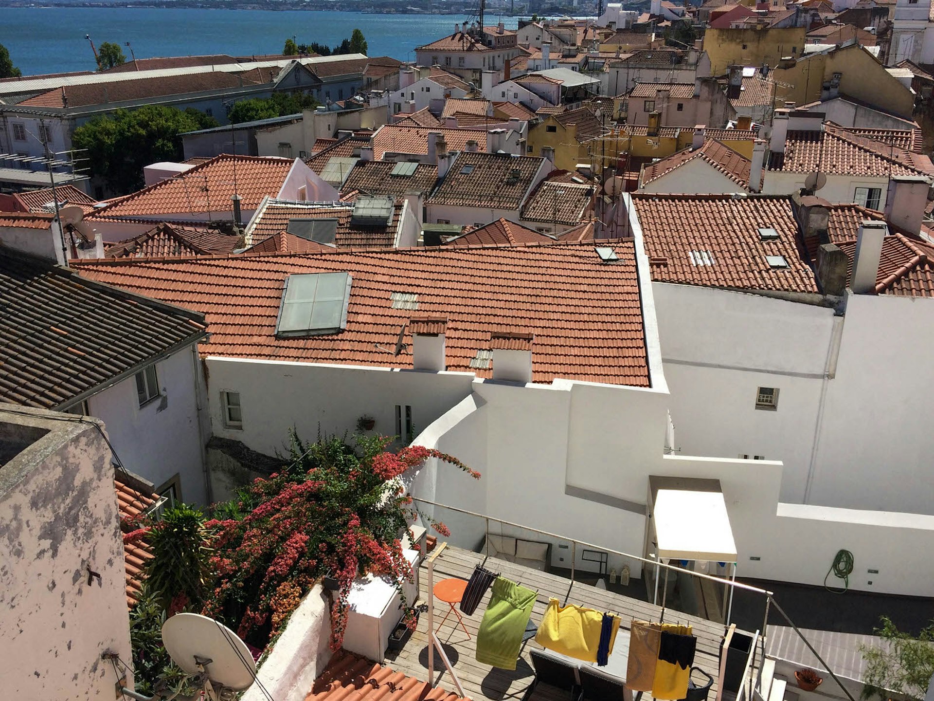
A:
{"type": "Polygon", "coordinates": [[[848,295],[810,501],[934,514],[934,299],[848,295]]]}

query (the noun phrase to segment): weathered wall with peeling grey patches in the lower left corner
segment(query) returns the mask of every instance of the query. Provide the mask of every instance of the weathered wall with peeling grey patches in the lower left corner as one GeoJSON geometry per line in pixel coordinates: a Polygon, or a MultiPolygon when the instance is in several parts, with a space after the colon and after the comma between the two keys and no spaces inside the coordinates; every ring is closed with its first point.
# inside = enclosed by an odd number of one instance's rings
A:
{"type": "MultiPolygon", "coordinates": [[[[0,408],[0,422],[22,418],[0,408]]],[[[132,660],[110,452],[89,423],[42,422],[50,433],[0,467],[2,695],[109,701],[101,654],[132,660]]]]}

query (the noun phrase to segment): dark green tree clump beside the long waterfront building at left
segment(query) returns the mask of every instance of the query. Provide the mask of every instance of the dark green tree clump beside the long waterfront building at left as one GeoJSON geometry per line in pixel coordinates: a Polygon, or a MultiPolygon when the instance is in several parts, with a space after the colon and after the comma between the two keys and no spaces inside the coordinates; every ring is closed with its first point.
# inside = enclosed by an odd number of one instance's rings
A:
{"type": "Polygon", "coordinates": [[[143,187],[143,167],[182,158],[183,132],[218,126],[217,120],[189,107],[147,105],[118,109],[82,124],[72,136],[76,149],[88,150],[93,177],[102,178],[115,193],[143,187]]]}

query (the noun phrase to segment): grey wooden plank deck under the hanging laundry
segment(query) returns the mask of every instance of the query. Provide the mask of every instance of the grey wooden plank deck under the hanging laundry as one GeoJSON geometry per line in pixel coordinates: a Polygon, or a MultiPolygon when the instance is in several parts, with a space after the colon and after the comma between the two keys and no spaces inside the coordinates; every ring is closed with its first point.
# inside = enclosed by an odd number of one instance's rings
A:
{"type": "MultiPolygon", "coordinates": [[[[474,566],[483,564],[485,559],[482,553],[447,547],[435,560],[434,581],[437,582],[448,577],[470,579],[474,566]]],[[[552,597],[559,599],[562,603],[567,601],[601,611],[618,612],[622,617],[622,625],[616,637],[616,646],[625,645],[627,650],[629,648],[630,621],[632,619],[659,621],[661,617],[661,607],[640,599],[607,592],[588,584],[572,582],[570,579],[558,575],[540,572],[522,565],[513,565],[495,558],[488,558],[485,566],[492,571],[500,572],[507,579],[512,579],[522,586],[538,592],[535,607],[532,609],[532,622],[541,622],[548,599],[552,597]]],[[[429,605],[432,602],[434,603],[435,627],[437,627],[438,622],[441,621],[448,608],[444,602],[434,599],[429,594],[428,568],[425,562],[419,567],[418,585],[420,603],[429,605]]],[[[453,614],[448,617],[438,637],[454,666],[464,692],[474,701],[484,698],[493,699],[494,701],[520,699],[534,677],[529,662],[529,650],[532,648],[540,649],[540,646],[533,639],[526,643],[514,672],[478,663],[475,659],[476,632],[480,621],[483,619],[488,602],[489,592],[484,596],[473,616],[463,616],[467,630],[470,631],[471,637],[469,639],[464,634],[463,629],[460,628],[460,625],[457,624],[457,619],[453,614]]],[[[701,669],[715,678],[718,667],[720,638],[724,631],[723,625],[672,610],[666,611],[664,620],[665,622],[689,623],[693,626],[694,635],[698,638],[695,665],[700,666],[701,669]]],[[[403,650],[398,652],[389,651],[384,662],[397,671],[403,672],[403,674],[418,679],[428,679],[427,612],[421,614],[417,629],[409,638],[403,650]]],[[[436,684],[448,691],[456,691],[454,683],[438,654],[434,656],[434,670],[436,684]]],[[[715,697],[715,690],[716,684],[711,690],[710,698],[715,697]]],[[[559,690],[552,687],[540,685],[536,688],[532,698],[535,701],[567,701],[568,694],[559,692],[559,690]]],[[[647,698],[647,694],[644,698],[647,698]]]]}

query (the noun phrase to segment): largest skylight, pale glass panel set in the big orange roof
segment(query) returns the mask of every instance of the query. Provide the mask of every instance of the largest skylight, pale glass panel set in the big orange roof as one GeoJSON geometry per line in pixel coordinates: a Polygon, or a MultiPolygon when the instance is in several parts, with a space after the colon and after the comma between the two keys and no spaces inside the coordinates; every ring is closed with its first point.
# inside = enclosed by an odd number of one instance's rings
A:
{"type": "Polygon", "coordinates": [[[290,275],[282,290],[276,336],[318,336],[347,328],[348,273],[290,275]]]}

